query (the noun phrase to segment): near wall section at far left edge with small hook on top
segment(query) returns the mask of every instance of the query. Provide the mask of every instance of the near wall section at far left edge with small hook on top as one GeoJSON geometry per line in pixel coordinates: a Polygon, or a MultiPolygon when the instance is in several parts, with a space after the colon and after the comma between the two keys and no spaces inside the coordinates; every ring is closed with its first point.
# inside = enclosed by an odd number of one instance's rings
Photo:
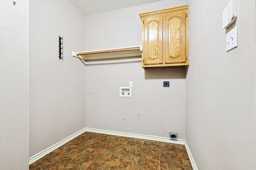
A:
{"type": "Polygon", "coordinates": [[[28,169],[29,2],[0,1],[0,169],[28,169]]]}

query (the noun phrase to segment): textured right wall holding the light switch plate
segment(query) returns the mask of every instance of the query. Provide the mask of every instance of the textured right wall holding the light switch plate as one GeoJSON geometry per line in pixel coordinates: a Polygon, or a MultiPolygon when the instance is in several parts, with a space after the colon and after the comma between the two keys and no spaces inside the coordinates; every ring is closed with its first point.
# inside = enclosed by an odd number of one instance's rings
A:
{"type": "Polygon", "coordinates": [[[186,142],[199,170],[256,167],[255,0],[237,0],[237,20],[226,31],[228,2],[186,0],[186,142]],[[236,25],[238,47],[226,52],[226,33],[236,25]]]}

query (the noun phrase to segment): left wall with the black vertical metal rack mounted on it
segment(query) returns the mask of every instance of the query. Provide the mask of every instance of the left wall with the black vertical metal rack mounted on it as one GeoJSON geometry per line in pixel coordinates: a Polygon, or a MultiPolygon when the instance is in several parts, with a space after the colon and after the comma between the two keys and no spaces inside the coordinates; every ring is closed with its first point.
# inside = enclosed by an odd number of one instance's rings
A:
{"type": "Polygon", "coordinates": [[[85,17],[68,0],[30,1],[30,157],[85,125],[85,17]],[[64,58],[58,60],[58,35],[64,58]]]}

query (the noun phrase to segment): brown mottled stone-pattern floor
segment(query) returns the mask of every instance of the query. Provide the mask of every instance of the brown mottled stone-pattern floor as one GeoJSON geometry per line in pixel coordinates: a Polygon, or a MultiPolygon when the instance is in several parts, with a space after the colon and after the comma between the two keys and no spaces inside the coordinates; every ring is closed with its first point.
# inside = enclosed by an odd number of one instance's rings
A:
{"type": "Polygon", "coordinates": [[[30,170],[193,170],[184,145],[85,132],[30,170]]]}

